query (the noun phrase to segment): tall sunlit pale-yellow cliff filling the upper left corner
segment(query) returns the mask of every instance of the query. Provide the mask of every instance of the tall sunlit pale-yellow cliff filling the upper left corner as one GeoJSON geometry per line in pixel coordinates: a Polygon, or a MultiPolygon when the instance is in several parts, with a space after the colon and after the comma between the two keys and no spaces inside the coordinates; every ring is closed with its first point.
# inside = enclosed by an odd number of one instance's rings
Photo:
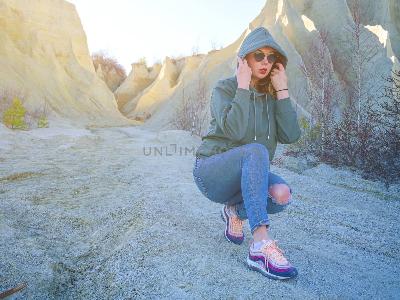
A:
{"type": "Polygon", "coordinates": [[[130,122],[96,76],[74,4],[61,0],[0,0],[0,91],[22,86],[26,107],[48,100],[58,115],[130,122]]]}

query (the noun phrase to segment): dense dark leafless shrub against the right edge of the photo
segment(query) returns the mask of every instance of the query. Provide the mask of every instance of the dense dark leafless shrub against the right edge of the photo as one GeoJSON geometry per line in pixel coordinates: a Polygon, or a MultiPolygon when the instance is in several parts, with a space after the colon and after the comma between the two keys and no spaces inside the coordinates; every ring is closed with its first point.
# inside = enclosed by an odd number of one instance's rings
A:
{"type": "Polygon", "coordinates": [[[339,122],[331,128],[330,164],[358,170],[366,179],[390,184],[400,178],[400,72],[386,78],[390,86],[374,98],[366,94],[365,109],[358,114],[352,98],[343,104],[339,122]],[[393,88],[394,86],[394,88],[393,88]]]}

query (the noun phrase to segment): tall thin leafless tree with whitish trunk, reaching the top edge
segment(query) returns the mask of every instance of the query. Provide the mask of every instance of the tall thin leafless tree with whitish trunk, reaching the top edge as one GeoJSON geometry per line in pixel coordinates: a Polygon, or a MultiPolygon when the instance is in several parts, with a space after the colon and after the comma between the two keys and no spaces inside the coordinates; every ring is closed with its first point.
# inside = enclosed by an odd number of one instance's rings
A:
{"type": "Polygon", "coordinates": [[[360,129],[360,116],[365,108],[365,100],[372,96],[367,94],[376,86],[374,78],[377,77],[377,71],[371,70],[372,58],[378,54],[381,47],[376,35],[364,27],[369,4],[361,9],[360,2],[360,0],[348,0],[352,19],[348,18],[345,24],[342,23],[345,38],[338,39],[346,46],[350,46],[350,51],[343,50],[342,53],[348,64],[346,85],[353,88],[354,94],[357,95],[357,130],[360,129]]]}

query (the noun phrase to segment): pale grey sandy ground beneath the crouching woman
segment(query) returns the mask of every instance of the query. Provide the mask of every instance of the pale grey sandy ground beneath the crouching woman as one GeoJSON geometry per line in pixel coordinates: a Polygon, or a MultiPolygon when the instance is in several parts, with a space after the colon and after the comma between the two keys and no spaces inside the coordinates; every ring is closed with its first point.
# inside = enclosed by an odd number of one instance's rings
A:
{"type": "Polygon", "coordinates": [[[294,201],[269,233],[299,275],[270,280],[246,268],[248,223],[242,245],[226,242],[220,205],[197,189],[184,147],[198,142],[142,126],[0,127],[0,292],[27,280],[6,299],[398,299],[398,185],[272,166],[294,201]]]}

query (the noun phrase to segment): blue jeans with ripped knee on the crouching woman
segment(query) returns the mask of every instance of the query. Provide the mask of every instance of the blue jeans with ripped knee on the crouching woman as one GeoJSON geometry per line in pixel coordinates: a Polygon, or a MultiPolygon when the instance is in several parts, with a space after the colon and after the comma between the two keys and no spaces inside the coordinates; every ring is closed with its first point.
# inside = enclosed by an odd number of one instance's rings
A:
{"type": "MultiPolygon", "coordinates": [[[[280,204],[268,194],[275,184],[290,186],[278,175],[268,172],[268,150],[261,144],[246,144],[226,152],[198,157],[193,178],[204,196],[212,202],[234,205],[240,220],[249,220],[251,233],[270,221],[268,214],[285,210],[292,203],[280,204]]],[[[292,194],[292,188],[290,188],[292,194]]]]}

